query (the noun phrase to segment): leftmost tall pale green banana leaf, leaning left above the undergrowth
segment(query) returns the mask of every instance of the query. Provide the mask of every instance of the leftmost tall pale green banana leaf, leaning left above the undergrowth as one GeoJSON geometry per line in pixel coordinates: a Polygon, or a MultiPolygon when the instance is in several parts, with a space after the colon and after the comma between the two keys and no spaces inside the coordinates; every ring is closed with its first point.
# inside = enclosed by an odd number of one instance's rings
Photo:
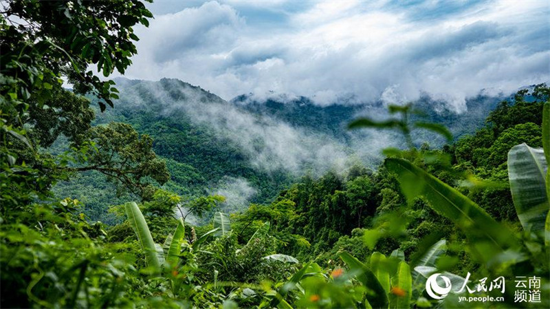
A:
{"type": "Polygon", "coordinates": [[[145,222],[140,208],[137,207],[135,202],[128,202],[124,204],[124,210],[128,216],[128,220],[137,235],[137,239],[140,241],[140,245],[145,253],[145,262],[147,266],[153,268],[156,274],[159,274],[161,271],[161,264],[159,257],[157,255],[157,248],[155,242],[153,242],[153,237],[151,237],[151,232],[145,222]]]}

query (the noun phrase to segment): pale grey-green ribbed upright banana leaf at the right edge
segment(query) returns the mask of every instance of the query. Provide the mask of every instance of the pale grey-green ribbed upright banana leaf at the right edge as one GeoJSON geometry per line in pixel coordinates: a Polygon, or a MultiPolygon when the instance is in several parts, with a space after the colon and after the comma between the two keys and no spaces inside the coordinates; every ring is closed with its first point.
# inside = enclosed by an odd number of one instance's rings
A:
{"type": "Polygon", "coordinates": [[[525,231],[544,231],[544,221],[550,209],[546,169],[542,149],[534,149],[524,143],[508,152],[511,197],[525,231]]]}

